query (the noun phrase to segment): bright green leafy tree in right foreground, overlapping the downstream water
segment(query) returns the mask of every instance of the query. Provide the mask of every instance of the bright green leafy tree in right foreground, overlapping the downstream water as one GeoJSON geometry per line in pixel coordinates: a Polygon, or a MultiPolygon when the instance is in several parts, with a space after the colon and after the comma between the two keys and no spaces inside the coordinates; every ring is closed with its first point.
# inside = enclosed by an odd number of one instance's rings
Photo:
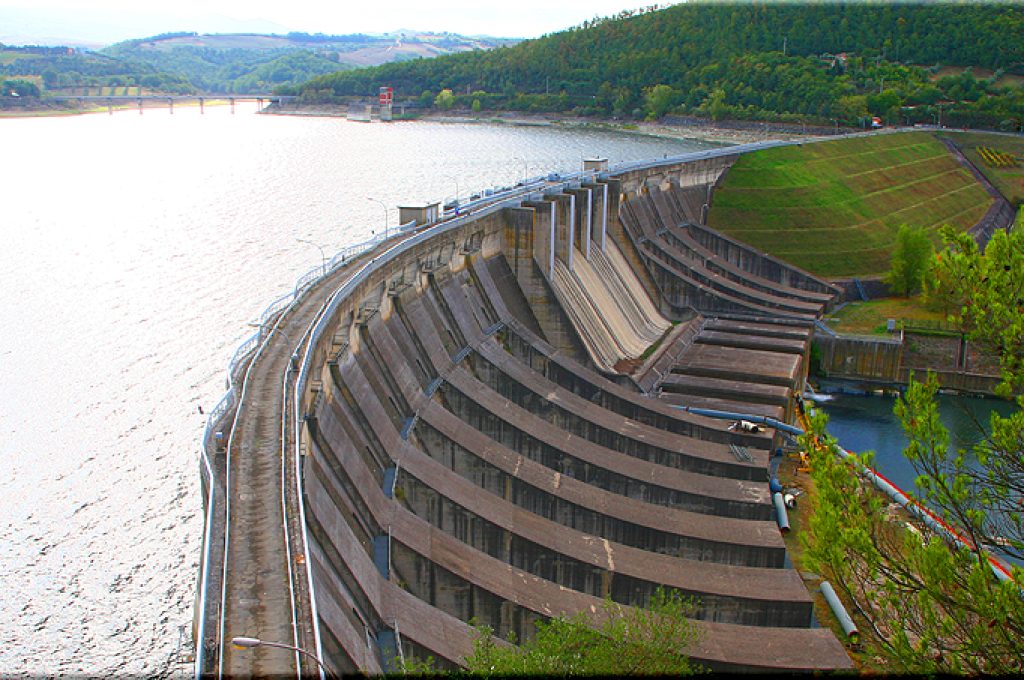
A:
{"type": "MultiPolygon", "coordinates": [[[[935,261],[964,300],[961,316],[972,340],[1000,360],[1005,395],[1018,411],[993,415],[972,452],[950,456],[938,417],[938,382],[911,380],[896,414],[910,443],[904,452],[919,473],[923,502],[963,542],[924,526],[913,532],[890,511],[888,499],[865,488],[870,456],[840,459],[812,417],[805,445],[817,505],[807,559],[853,602],[865,622],[865,656],[888,671],[1011,674],[1024,666],[1024,570],[996,578],[985,546],[1024,557],[1024,229],[997,231],[984,254],[963,232],[943,229],[946,249],[935,261]],[[820,448],[814,444],[820,444],[820,448]],[[895,521],[894,521],[895,520],[895,521]]],[[[980,425],[979,425],[980,426],[980,425]]],[[[862,632],[865,632],[862,629],[862,632]]]]}

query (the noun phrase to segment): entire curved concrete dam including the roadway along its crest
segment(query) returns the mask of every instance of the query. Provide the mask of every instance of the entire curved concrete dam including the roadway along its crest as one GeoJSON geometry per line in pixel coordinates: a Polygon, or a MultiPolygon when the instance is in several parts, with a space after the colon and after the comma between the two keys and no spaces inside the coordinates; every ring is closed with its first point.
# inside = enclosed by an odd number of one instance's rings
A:
{"type": "Polygon", "coordinates": [[[658,587],[695,599],[712,669],[852,668],[775,522],[781,435],[683,409],[791,421],[839,295],[705,226],[742,151],[409,228],[261,329],[208,442],[197,674],[456,669],[471,621],[526,639],[658,587]]]}

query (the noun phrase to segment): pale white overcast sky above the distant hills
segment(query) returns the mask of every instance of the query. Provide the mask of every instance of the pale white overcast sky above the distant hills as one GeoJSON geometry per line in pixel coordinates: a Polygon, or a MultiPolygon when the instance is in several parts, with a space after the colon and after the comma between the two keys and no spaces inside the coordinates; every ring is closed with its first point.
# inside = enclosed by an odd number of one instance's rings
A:
{"type": "MultiPolygon", "coordinates": [[[[0,0],[0,41],[113,43],[172,31],[388,33],[536,38],[654,0],[0,0]]],[[[662,2],[660,4],[669,4],[662,2]]]]}

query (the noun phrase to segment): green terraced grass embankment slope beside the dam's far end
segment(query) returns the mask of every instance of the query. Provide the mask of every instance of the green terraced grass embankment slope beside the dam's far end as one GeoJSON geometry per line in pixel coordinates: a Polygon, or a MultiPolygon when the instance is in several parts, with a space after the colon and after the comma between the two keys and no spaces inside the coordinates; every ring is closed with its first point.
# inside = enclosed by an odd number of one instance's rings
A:
{"type": "Polygon", "coordinates": [[[941,142],[914,132],[746,154],[708,221],[818,275],[864,277],[889,270],[900,224],[967,229],[990,203],[941,142]]]}

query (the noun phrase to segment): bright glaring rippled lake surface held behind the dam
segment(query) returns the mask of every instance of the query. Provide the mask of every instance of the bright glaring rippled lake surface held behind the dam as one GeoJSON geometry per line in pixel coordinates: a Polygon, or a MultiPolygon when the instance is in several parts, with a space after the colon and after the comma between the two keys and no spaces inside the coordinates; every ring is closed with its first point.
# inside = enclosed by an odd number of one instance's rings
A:
{"type": "Polygon", "coordinates": [[[237,112],[0,120],[0,674],[190,671],[200,409],[319,264],[296,239],[365,240],[385,220],[368,197],[394,226],[457,186],[710,146],[237,112]]]}

